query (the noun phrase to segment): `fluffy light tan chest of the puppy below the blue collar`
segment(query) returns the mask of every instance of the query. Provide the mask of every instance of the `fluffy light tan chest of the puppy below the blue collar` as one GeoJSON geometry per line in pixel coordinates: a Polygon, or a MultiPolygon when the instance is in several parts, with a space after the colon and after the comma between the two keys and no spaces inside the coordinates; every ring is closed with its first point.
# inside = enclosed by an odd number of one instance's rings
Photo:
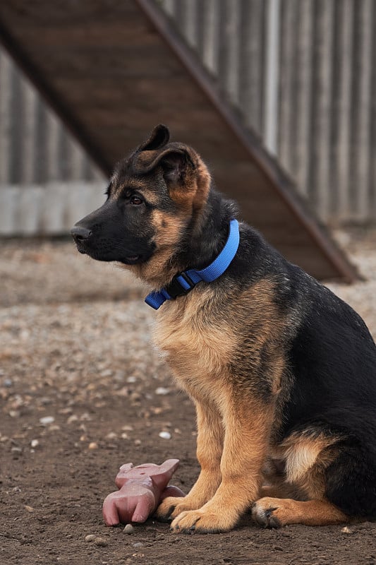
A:
{"type": "Polygon", "coordinates": [[[180,386],[195,398],[210,396],[212,386],[226,376],[235,346],[234,335],[223,320],[177,304],[159,317],[154,341],[180,386]]]}

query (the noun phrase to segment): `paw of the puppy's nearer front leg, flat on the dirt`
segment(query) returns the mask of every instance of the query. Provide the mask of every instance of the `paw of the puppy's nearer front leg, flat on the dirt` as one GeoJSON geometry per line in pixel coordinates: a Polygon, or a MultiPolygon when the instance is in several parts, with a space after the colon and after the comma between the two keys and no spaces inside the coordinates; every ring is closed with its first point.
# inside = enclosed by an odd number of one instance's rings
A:
{"type": "Polygon", "coordinates": [[[228,532],[236,525],[236,519],[226,513],[214,513],[204,509],[190,510],[180,513],[171,523],[174,533],[220,533],[228,532]]]}

